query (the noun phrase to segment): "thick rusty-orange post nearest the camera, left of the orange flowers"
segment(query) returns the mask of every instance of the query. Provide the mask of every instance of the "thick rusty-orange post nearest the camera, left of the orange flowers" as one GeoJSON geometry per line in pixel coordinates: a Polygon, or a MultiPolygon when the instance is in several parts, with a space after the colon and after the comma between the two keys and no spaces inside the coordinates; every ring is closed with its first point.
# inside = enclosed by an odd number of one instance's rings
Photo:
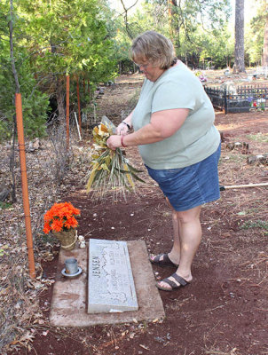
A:
{"type": "Polygon", "coordinates": [[[33,235],[32,235],[31,216],[30,216],[30,207],[29,207],[29,199],[28,199],[28,179],[27,179],[22,104],[21,104],[20,93],[16,93],[15,104],[16,104],[16,120],[17,120],[19,151],[20,151],[22,200],[23,200],[27,248],[28,248],[28,267],[29,267],[30,277],[32,279],[35,279],[35,256],[34,256],[34,248],[33,248],[33,235]]]}

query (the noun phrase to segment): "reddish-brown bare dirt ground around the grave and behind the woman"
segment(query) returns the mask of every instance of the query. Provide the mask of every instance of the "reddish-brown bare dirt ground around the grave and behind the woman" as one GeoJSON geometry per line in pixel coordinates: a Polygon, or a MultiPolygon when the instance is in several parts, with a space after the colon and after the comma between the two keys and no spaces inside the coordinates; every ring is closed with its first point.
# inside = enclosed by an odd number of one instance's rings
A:
{"type": "MultiPolygon", "coordinates": [[[[133,104],[140,87],[139,77],[122,77],[114,88],[106,88],[99,101],[99,116],[115,123],[121,111],[133,104]],[[135,79],[133,81],[133,79],[135,79]]],[[[217,113],[217,127],[223,132],[220,162],[222,185],[267,182],[264,165],[248,165],[248,154],[268,152],[268,114],[217,113]],[[245,142],[229,150],[227,143],[245,142]],[[247,153],[247,154],[245,154],[247,153]]],[[[127,150],[130,162],[142,167],[136,148],[127,150]]],[[[138,194],[127,201],[92,202],[77,187],[63,196],[82,209],[79,234],[108,240],[143,240],[148,252],[169,251],[171,221],[159,188],[149,177],[138,186],[138,194]]],[[[49,328],[35,336],[35,350],[28,355],[98,354],[142,355],[263,355],[267,343],[268,222],[265,187],[228,190],[219,201],[202,209],[203,238],[193,262],[193,282],[172,293],[161,291],[166,319],[122,326],[49,328]]],[[[55,275],[57,258],[43,263],[48,277],[55,275]]],[[[172,272],[154,267],[156,278],[172,272]]],[[[41,296],[48,316],[51,289],[41,296]]],[[[15,353],[15,352],[14,352],[15,353]]]]}

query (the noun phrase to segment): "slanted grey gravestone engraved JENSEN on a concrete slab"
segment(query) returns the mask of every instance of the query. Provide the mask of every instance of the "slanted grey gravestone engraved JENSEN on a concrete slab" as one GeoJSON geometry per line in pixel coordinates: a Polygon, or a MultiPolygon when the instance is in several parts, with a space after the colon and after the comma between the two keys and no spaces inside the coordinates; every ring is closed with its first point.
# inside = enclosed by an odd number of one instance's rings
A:
{"type": "Polygon", "coordinates": [[[88,313],[138,311],[126,241],[89,242],[88,313]]]}

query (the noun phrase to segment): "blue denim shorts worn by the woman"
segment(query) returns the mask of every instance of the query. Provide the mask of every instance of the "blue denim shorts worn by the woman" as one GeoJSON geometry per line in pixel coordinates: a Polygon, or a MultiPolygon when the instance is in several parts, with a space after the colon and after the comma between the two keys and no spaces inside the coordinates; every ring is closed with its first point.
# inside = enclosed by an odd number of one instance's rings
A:
{"type": "Polygon", "coordinates": [[[220,153],[219,145],[214,154],[185,168],[154,170],[146,166],[146,169],[173,209],[185,211],[219,199],[217,164],[220,153]]]}

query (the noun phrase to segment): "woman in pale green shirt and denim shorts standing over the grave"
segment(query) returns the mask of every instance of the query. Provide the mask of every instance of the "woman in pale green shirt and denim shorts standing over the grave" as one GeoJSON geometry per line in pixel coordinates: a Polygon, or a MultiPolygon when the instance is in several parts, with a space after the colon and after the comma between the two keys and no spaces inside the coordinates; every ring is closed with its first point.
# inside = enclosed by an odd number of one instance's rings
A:
{"type": "Polygon", "coordinates": [[[177,268],[156,283],[165,291],[193,280],[193,256],[201,242],[201,205],[219,198],[220,135],[213,106],[199,79],[176,59],[168,38],[146,31],[131,57],[146,76],[138,104],[107,140],[111,149],[138,146],[149,175],[172,209],[173,247],[150,256],[152,264],[177,268]],[[126,134],[130,128],[133,133],[126,134]]]}

